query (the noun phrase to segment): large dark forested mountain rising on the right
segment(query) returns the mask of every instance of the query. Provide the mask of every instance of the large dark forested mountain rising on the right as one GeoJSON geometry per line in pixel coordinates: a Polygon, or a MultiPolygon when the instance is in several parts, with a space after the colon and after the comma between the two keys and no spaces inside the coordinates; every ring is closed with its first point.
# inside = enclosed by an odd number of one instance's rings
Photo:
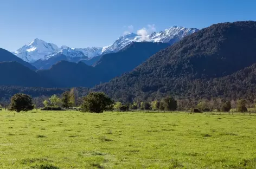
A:
{"type": "Polygon", "coordinates": [[[112,98],[124,101],[150,100],[168,94],[212,96],[214,88],[206,93],[200,88],[213,79],[219,80],[256,63],[255,46],[256,22],[214,24],[184,37],[129,74],[94,90],[104,91],[112,98]],[[196,93],[191,92],[193,88],[196,93]]]}

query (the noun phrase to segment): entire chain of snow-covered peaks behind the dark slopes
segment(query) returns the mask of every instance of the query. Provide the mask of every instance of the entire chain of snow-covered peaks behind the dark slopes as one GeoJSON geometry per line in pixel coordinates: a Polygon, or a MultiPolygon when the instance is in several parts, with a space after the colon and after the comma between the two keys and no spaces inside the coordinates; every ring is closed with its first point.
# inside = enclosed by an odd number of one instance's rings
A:
{"type": "Polygon", "coordinates": [[[76,62],[82,61],[92,65],[100,59],[100,55],[117,53],[132,42],[162,42],[173,44],[180,41],[184,36],[190,35],[198,29],[184,27],[171,27],[165,31],[152,32],[148,36],[140,36],[134,33],[122,35],[112,45],[107,47],[69,48],[67,46],[57,47],[56,44],[48,43],[35,38],[31,43],[14,52],[22,60],[33,64],[37,69],[48,69],[57,61],[63,60],[76,62]],[[60,57],[61,56],[61,57],[60,57]],[[93,58],[95,57],[95,58],[93,58]],[[54,59],[52,59],[54,58],[54,59]]]}

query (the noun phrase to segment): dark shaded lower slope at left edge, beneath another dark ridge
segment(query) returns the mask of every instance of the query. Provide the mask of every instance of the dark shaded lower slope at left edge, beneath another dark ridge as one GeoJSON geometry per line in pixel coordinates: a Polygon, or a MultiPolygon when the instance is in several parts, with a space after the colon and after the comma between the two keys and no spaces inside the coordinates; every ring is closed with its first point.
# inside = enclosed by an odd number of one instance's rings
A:
{"type": "Polygon", "coordinates": [[[0,62],[0,85],[24,87],[50,87],[48,80],[38,75],[34,70],[18,62],[0,62]]]}

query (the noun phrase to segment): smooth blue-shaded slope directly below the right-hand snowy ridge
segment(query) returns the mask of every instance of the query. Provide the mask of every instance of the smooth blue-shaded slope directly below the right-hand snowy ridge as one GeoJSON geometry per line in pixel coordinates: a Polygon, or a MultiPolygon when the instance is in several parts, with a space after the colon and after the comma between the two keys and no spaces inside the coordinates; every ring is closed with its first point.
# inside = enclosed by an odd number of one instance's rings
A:
{"type": "Polygon", "coordinates": [[[167,48],[168,43],[132,42],[118,53],[105,54],[94,65],[101,72],[101,82],[107,82],[113,77],[120,76],[125,72],[143,63],[157,51],[167,48]]]}

